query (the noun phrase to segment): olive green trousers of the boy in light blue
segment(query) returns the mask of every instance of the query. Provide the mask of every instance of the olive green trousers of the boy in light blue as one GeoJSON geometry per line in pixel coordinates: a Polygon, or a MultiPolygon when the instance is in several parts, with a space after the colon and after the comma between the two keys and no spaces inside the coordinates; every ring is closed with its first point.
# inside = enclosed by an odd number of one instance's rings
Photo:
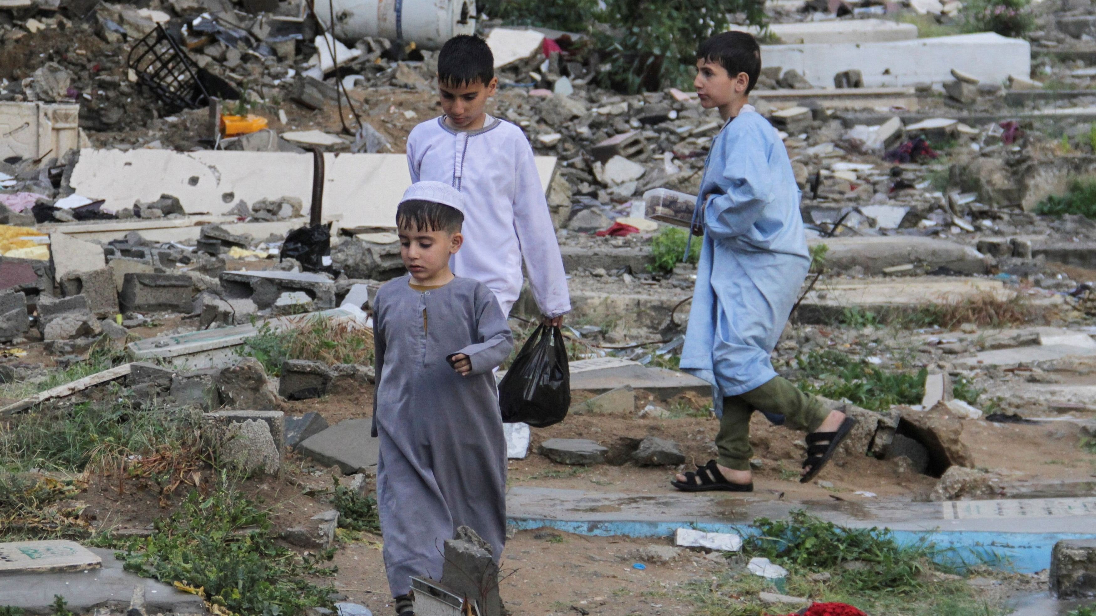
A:
{"type": "Polygon", "coordinates": [[[784,423],[800,432],[814,432],[830,409],[814,396],[804,394],[790,381],[775,376],[761,387],[723,398],[723,417],[716,435],[716,462],[733,470],[750,470],[750,418],[754,409],[784,416],[784,423]]]}

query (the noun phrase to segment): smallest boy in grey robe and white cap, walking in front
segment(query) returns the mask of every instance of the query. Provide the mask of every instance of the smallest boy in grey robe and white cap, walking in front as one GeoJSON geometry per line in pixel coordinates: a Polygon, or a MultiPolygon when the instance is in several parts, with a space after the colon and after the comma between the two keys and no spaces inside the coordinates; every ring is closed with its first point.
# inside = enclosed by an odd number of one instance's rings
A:
{"type": "Polygon", "coordinates": [[[409,275],[377,292],[373,323],[380,440],[377,504],[396,613],[409,616],[411,576],[442,577],[443,543],[469,526],[506,534],[506,442],[492,371],[513,348],[494,294],[458,278],[464,198],[441,182],[408,188],[396,214],[409,275]]]}

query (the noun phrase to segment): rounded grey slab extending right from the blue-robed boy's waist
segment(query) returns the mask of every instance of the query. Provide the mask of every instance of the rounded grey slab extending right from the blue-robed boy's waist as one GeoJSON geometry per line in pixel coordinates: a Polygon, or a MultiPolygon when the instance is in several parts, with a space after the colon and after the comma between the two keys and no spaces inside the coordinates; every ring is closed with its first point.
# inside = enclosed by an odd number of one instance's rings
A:
{"type": "Polygon", "coordinates": [[[959,274],[985,274],[986,259],[970,246],[946,240],[915,235],[871,237],[825,237],[809,240],[825,244],[826,266],[835,271],[859,266],[865,274],[882,274],[884,268],[914,264],[922,270],[947,268],[959,274]]]}

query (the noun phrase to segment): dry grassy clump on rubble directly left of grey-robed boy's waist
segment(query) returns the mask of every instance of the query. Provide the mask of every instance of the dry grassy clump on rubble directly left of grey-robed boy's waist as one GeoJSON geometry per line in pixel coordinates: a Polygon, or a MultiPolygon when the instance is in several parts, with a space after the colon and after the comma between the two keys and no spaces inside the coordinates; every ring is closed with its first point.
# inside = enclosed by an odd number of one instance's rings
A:
{"type": "Polygon", "coordinates": [[[326,316],[309,316],[285,329],[263,323],[259,332],[243,340],[237,353],[253,357],[272,376],[282,375],[287,359],[336,363],[373,364],[373,332],[326,316]]]}

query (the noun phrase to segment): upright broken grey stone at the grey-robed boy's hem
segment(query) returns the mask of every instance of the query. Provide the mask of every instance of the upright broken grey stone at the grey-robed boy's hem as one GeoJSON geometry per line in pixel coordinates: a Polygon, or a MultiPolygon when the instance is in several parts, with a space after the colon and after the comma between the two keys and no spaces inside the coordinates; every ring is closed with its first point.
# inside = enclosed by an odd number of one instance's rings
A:
{"type": "Polygon", "coordinates": [[[499,566],[491,545],[468,526],[457,528],[456,537],[445,541],[442,585],[457,596],[476,601],[481,616],[502,616],[499,596],[499,566]]]}

